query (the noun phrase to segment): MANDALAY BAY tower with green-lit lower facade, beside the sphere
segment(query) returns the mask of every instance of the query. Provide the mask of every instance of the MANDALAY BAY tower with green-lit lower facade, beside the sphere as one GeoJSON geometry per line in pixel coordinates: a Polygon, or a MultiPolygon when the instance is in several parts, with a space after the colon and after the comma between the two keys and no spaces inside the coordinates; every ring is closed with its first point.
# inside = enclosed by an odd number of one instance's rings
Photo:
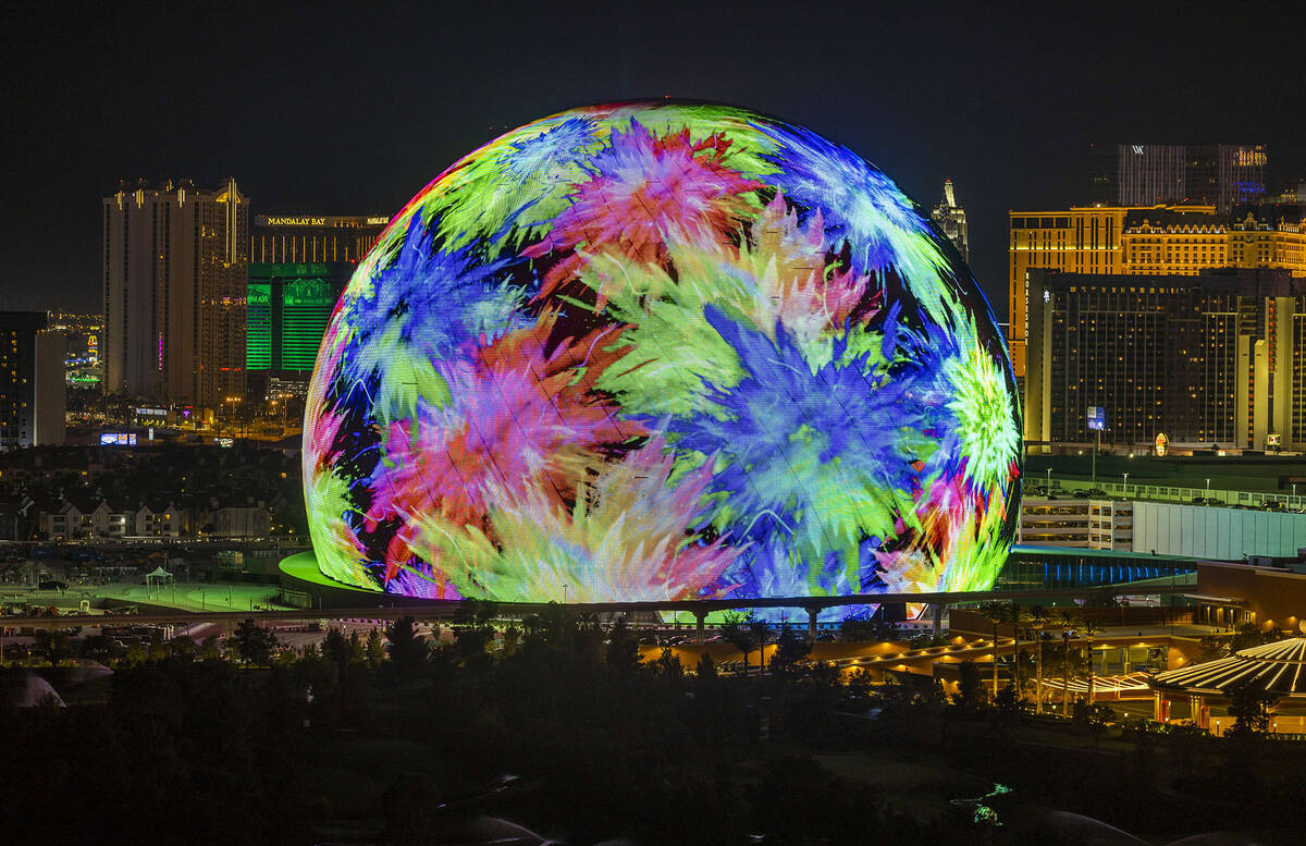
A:
{"type": "Polygon", "coordinates": [[[377,214],[255,217],[246,342],[252,400],[307,392],[336,302],[387,223],[377,214]]]}

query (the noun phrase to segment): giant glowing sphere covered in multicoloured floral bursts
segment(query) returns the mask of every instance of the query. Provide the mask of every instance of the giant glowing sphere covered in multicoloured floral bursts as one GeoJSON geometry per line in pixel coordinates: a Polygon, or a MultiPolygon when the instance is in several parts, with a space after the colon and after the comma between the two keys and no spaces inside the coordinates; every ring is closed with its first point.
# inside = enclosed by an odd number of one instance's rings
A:
{"type": "Polygon", "coordinates": [[[465,157],[323,339],[323,573],[496,602],[989,588],[1020,410],[956,252],[875,167],[739,108],[594,106],[465,157]]]}

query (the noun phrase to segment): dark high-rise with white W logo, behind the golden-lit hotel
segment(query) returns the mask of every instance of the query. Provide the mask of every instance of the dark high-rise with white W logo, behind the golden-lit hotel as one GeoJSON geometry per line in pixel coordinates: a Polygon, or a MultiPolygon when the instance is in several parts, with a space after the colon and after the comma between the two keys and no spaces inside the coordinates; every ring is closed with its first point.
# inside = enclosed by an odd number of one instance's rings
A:
{"type": "Polygon", "coordinates": [[[1267,162],[1263,144],[1117,144],[1114,150],[1091,145],[1089,202],[1182,202],[1229,213],[1266,193],[1267,162]]]}

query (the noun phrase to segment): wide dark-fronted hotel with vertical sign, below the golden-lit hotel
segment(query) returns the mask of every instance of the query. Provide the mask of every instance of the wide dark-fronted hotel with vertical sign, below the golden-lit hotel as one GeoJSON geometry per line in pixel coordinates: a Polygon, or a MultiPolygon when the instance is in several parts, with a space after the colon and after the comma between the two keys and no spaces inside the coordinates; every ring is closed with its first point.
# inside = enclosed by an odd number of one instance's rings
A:
{"type": "Polygon", "coordinates": [[[1306,283],[1285,270],[1121,275],[1032,269],[1025,437],[1264,449],[1297,441],[1306,283]],[[1297,393],[1294,397],[1294,388],[1297,393]],[[1296,416],[1294,416],[1296,414],[1296,416]]]}

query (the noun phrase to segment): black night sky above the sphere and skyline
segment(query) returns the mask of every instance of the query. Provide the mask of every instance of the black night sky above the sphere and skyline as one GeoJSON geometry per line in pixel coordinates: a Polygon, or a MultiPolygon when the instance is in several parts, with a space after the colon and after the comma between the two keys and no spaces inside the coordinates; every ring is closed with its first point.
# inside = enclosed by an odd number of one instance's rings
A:
{"type": "Polygon", "coordinates": [[[256,213],[393,214],[503,129],[613,99],[778,115],[926,208],[952,178],[1000,319],[1006,212],[1084,200],[1089,141],[1263,141],[1275,181],[1306,172],[1294,3],[18,5],[0,308],[99,309],[119,178],[231,174],[256,213]]]}

